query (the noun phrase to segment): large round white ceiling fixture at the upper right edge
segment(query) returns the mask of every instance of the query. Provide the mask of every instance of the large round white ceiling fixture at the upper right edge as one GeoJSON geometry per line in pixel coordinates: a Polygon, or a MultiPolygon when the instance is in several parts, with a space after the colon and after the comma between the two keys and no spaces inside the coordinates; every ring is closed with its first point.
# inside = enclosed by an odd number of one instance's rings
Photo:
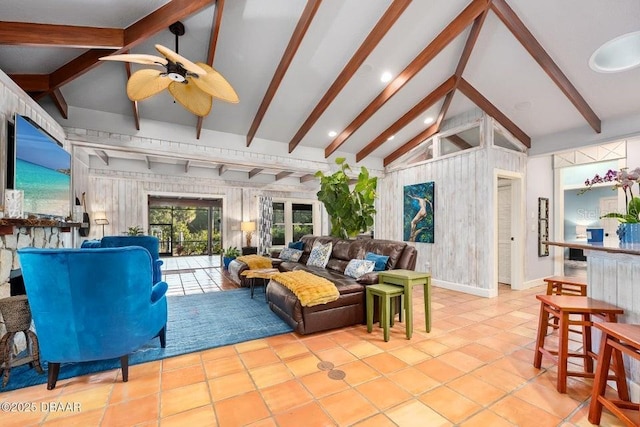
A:
{"type": "Polygon", "coordinates": [[[640,66],[640,31],[609,40],[591,55],[589,67],[599,73],[617,73],[640,66]]]}

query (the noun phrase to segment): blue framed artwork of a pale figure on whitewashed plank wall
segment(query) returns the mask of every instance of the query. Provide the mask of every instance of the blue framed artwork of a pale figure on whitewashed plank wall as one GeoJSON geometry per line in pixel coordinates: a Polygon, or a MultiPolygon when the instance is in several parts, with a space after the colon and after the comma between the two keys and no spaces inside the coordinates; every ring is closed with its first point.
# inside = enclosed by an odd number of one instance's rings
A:
{"type": "Polygon", "coordinates": [[[406,242],[433,243],[435,183],[404,186],[404,240],[406,242]]]}

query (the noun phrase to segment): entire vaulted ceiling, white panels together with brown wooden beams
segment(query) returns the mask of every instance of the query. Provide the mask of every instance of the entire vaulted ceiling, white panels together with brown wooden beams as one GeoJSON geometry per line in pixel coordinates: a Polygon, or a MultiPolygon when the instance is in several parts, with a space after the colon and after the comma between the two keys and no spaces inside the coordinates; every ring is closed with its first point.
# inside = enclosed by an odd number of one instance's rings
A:
{"type": "Polygon", "coordinates": [[[443,119],[476,106],[526,146],[571,129],[598,133],[640,111],[640,68],[600,74],[588,65],[601,44],[640,29],[636,0],[7,3],[0,69],[63,126],[78,109],[105,111],[129,117],[128,134],[156,120],[190,126],[197,137],[203,129],[242,135],[249,150],[264,139],[283,143],[274,154],[313,148],[388,165],[443,119]],[[144,67],[98,60],[157,54],[155,44],[174,49],[175,21],[186,27],[179,53],[213,64],[239,104],[214,101],[198,118],[166,91],[133,103],[127,76],[144,67]],[[383,83],[385,71],[391,80],[383,83]]]}

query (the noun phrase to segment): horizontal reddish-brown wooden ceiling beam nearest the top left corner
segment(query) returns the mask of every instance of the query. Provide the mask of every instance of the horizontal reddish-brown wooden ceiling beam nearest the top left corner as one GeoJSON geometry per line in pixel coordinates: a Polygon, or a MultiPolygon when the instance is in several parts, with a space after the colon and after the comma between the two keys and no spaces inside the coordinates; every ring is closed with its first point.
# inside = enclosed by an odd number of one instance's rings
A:
{"type": "Polygon", "coordinates": [[[0,21],[0,45],[119,49],[123,43],[120,28],[0,21]]]}

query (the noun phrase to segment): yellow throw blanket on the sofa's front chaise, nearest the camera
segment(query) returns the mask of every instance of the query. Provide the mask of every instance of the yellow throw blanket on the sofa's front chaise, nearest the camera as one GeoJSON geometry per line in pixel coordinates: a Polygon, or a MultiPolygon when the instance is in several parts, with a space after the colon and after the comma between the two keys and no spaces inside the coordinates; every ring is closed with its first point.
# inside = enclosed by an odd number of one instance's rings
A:
{"type": "Polygon", "coordinates": [[[337,300],[340,296],[336,285],[306,271],[277,273],[271,279],[289,288],[298,297],[303,307],[326,304],[337,300]]]}

